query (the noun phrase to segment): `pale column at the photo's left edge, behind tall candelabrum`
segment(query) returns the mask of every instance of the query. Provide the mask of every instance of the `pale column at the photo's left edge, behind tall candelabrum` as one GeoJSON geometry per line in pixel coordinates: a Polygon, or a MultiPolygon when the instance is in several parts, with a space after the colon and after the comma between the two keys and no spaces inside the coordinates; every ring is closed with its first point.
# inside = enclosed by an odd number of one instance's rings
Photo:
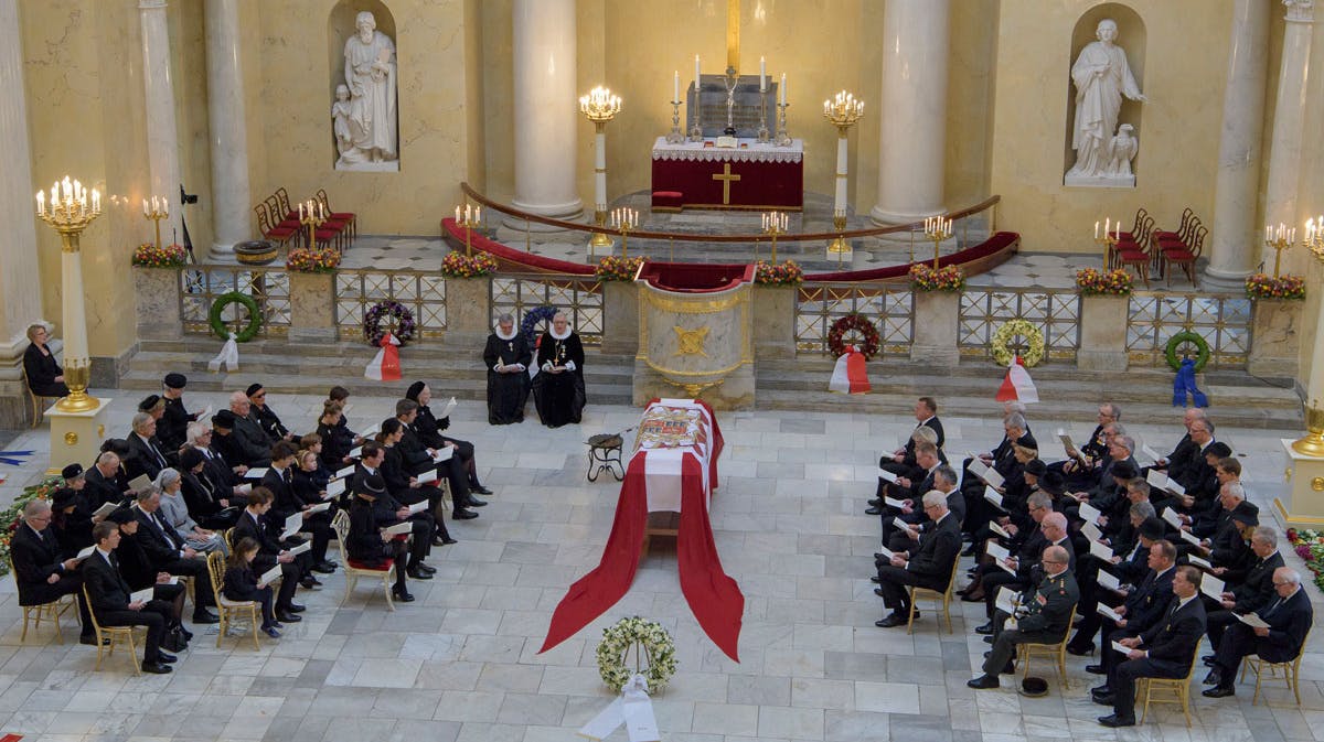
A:
{"type": "Polygon", "coordinates": [[[41,287],[54,283],[54,276],[41,280],[37,263],[37,186],[28,139],[19,0],[0,0],[0,90],[11,91],[9,104],[0,106],[0,142],[7,155],[0,168],[0,224],[5,225],[5,239],[0,242],[0,429],[19,429],[26,407],[20,381],[26,329],[40,321],[41,287]]]}

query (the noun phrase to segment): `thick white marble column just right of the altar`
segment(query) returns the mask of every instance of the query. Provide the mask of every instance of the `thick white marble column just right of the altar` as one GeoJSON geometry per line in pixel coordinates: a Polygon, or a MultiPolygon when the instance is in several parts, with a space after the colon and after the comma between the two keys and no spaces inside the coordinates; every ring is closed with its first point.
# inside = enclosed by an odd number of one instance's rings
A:
{"type": "Polygon", "coordinates": [[[887,0],[879,127],[878,224],[940,214],[947,147],[949,0],[887,0]]]}

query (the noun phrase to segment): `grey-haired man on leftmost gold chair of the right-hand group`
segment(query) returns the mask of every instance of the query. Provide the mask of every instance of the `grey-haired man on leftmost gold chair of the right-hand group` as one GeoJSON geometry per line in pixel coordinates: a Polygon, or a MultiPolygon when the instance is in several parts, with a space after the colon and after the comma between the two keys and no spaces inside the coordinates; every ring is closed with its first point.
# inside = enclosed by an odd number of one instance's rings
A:
{"type": "Polygon", "coordinates": [[[892,612],[875,622],[879,628],[910,623],[910,594],[906,586],[944,591],[952,579],[952,565],[961,553],[961,524],[947,509],[947,495],[937,489],[924,493],[924,513],[933,525],[924,529],[919,549],[894,553],[887,562],[875,556],[878,587],[883,604],[892,612]]]}

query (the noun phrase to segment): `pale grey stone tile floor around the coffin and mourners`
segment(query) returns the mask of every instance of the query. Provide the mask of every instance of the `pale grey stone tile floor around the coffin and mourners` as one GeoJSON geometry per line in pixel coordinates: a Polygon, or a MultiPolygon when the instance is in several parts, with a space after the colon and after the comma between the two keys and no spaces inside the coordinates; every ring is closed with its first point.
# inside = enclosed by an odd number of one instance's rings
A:
{"type": "MultiPolygon", "coordinates": [[[[242,380],[246,384],[249,380],[242,380]]],[[[445,390],[438,390],[444,395],[445,390]]],[[[592,394],[592,390],[589,390],[592,394]]],[[[114,395],[114,392],[103,395],[114,395]]],[[[218,407],[220,394],[189,394],[191,407],[218,407]]],[[[319,401],[273,397],[293,427],[307,427],[319,401]]],[[[352,399],[351,423],[388,413],[389,397],[352,399]]],[[[110,430],[127,427],[132,401],[118,398],[110,430]]],[[[387,611],[369,585],[342,604],[340,575],[302,591],[306,620],[261,651],[203,631],[169,676],[135,677],[113,657],[91,672],[95,652],[57,645],[42,627],[20,643],[20,611],[9,578],[0,581],[0,731],[24,739],[275,739],[528,741],[576,739],[575,730],[610,696],[597,677],[597,631],[625,615],[662,622],[674,635],[679,672],[654,701],[663,739],[898,742],[1021,742],[1049,739],[1200,742],[1324,738],[1324,652],[1320,632],[1303,664],[1303,704],[1275,686],[1274,706],[1196,697],[1193,726],[1161,709],[1144,726],[1098,726],[1106,713],[1087,696],[1094,676],[1070,657],[1070,690],[1023,698],[1013,689],[965,686],[986,645],[972,634],[981,607],[957,603],[956,634],[924,611],[914,635],[873,626],[882,615],[869,582],[876,518],[863,513],[879,450],[914,421],[896,415],[724,413],[727,450],[712,503],[716,544],[747,606],[741,663],[722,655],[681,597],[674,553],[655,552],[630,593],[592,627],[536,655],[565,589],[598,559],[618,492],[584,479],[584,439],[633,425],[638,410],[589,406],[579,427],[534,422],[490,427],[462,403],[454,433],[479,451],[481,474],[496,491],[474,521],[450,524],[458,545],[440,549],[437,579],[414,582],[418,600],[387,611]]],[[[1035,430],[1055,427],[1034,410],[1035,430]]],[[[1217,410],[1213,410],[1217,421],[1217,410]]],[[[1001,435],[992,419],[944,411],[948,450],[986,450],[1001,435]]],[[[1174,425],[1140,426],[1166,450],[1174,425]]],[[[1087,430],[1072,426],[1078,436],[1087,430]]],[[[1280,443],[1295,431],[1219,429],[1243,456],[1254,499],[1282,489],[1280,443]]],[[[49,451],[45,427],[11,448],[49,451]]],[[[1043,435],[1043,438],[1049,438],[1043,435]]],[[[1061,451],[1045,440],[1043,455],[1061,451]]],[[[38,459],[41,455],[38,454],[38,459]]],[[[44,460],[3,467],[0,503],[40,476],[44,460]]],[[[1288,561],[1299,566],[1290,556],[1288,561]]],[[[1320,594],[1308,586],[1320,610],[1320,594]]],[[[1038,672],[1047,672],[1037,665],[1038,672]]],[[[1197,686],[1198,690],[1198,686],[1197,686]]],[[[624,739],[618,731],[613,739],[624,739]]]]}

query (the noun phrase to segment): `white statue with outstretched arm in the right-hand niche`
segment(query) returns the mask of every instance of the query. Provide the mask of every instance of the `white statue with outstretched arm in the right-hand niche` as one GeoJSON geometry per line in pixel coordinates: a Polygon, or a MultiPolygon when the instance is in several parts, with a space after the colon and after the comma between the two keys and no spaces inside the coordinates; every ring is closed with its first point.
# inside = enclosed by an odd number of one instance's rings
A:
{"type": "MultiPolygon", "coordinates": [[[[1131,75],[1127,52],[1115,44],[1117,24],[1112,19],[1099,21],[1095,36],[1098,41],[1086,45],[1071,65],[1071,82],[1076,89],[1071,148],[1076,152],[1076,161],[1063,180],[1066,185],[1133,186],[1136,179],[1129,173],[1129,163],[1135,153],[1127,157],[1127,175],[1110,175],[1111,149],[1113,132],[1121,136],[1117,130],[1121,98],[1145,101],[1145,97],[1131,75]]],[[[1133,144],[1129,126],[1127,136],[1133,144]]]]}

